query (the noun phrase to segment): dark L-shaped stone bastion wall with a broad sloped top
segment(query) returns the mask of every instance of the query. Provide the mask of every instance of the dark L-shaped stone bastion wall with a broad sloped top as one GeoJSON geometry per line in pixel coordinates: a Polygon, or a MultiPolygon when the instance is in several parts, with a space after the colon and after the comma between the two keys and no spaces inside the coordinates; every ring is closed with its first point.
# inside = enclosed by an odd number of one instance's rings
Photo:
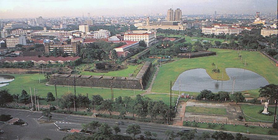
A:
{"type": "Polygon", "coordinates": [[[136,77],[115,77],[115,76],[91,76],[73,74],[52,74],[48,84],[65,86],[75,85],[82,87],[106,87],[106,88],[127,88],[144,89],[150,78],[151,62],[145,62],[136,77]]]}

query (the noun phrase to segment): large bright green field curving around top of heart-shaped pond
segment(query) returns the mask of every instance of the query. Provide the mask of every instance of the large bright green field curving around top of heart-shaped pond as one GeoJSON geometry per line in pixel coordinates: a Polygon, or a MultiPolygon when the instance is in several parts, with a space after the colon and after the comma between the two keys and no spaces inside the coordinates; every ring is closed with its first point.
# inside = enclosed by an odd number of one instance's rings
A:
{"type": "MultiPolygon", "coordinates": [[[[183,58],[175,62],[170,62],[160,67],[158,75],[152,87],[153,92],[169,93],[170,81],[175,81],[179,74],[186,70],[195,68],[204,68],[213,79],[228,80],[229,77],[225,72],[225,68],[243,68],[254,71],[267,79],[269,83],[278,84],[278,68],[274,62],[269,60],[259,52],[241,51],[242,60],[246,59],[247,65],[244,66],[244,61],[240,61],[238,53],[235,50],[229,49],[211,49],[217,52],[217,56],[197,57],[197,58],[183,58]],[[212,69],[217,65],[220,73],[212,72],[212,69]],[[222,79],[222,70],[224,78],[222,79]]],[[[186,93],[186,92],[185,92],[186,93]]],[[[245,93],[248,93],[246,91],[245,93]]],[[[258,97],[258,90],[252,90],[252,96],[258,97]]]]}

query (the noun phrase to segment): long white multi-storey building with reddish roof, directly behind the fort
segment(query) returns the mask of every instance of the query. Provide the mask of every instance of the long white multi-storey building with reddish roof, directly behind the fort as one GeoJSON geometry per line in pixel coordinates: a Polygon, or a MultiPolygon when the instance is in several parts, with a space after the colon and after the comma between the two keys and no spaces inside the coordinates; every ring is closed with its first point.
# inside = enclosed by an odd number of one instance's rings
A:
{"type": "Polygon", "coordinates": [[[144,33],[144,34],[125,33],[124,34],[124,41],[141,41],[141,40],[145,41],[147,47],[149,47],[155,41],[154,33],[144,33]]]}

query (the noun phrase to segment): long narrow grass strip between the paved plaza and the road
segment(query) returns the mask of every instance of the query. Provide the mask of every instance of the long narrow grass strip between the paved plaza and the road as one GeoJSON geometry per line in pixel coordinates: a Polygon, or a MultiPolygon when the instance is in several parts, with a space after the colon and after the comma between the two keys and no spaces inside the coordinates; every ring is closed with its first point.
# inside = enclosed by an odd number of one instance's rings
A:
{"type": "MultiPolygon", "coordinates": [[[[220,123],[220,122],[219,122],[220,123]]],[[[189,126],[191,127],[191,123],[190,122],[183,122],[183,126],[189,126]]],[[[193,122],[193,127],[198,127],[198,128],[206,128],[206,129],[216,129],[216,130],[225,130],[225,131],[233,131],[233,132],[242,132],[242,133],[246,133],[247,132],[247,127],[245,127],[244,125],[222,125],[221,124],[207,124],[207,123],[196,123],[193,122]],[[223,129],[221,129],[221,126],[223,127],[223,129]]],[[[273,128],[267,128],[267,127],[259,127],[259,126],[249,126],[248,131],[251,134],[265,134],[268,135],[269,130],[274,131],[273,128]]],[[[274,135],[278,135],[278,133],[276,131],[274,131],[274,135]]]]}

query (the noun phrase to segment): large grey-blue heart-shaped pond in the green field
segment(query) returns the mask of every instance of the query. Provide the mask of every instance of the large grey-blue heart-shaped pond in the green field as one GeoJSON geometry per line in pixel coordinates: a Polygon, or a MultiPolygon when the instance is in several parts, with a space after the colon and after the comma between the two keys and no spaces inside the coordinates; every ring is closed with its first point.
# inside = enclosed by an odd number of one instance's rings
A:
{"type": "Polygon", "coordinates": [[[174,86],[172,87],[172,90],[179,91],[179,79],[181,81],[180,90],[191,92],[200,92],[204,89],[212,92],[232,92],[234,78],[234,92],[258,89],[259,87],[269,84],[263,76],[250,70],[226,68],[226,73],[230,77],[230,80],[220,81],[212,79],[205,69],[187,70],[179,75],[174,86]]]}

